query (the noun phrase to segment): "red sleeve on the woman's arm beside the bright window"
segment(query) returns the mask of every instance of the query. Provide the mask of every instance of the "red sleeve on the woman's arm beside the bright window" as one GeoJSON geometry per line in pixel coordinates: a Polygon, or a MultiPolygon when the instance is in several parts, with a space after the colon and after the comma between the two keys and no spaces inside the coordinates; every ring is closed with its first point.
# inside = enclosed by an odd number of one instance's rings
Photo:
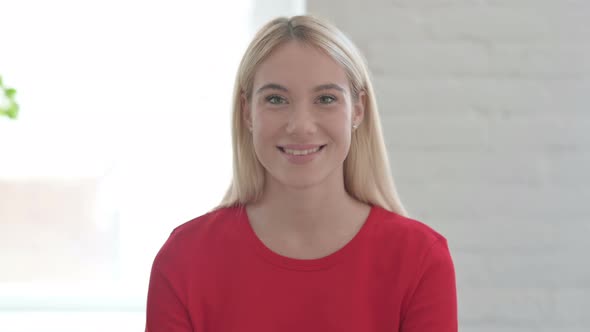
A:
{"type": "Polygon", "coordinates": [[[147,296],[146,332],[192,332],[186,306],[156,257],[152,266],[147,296]]]}

